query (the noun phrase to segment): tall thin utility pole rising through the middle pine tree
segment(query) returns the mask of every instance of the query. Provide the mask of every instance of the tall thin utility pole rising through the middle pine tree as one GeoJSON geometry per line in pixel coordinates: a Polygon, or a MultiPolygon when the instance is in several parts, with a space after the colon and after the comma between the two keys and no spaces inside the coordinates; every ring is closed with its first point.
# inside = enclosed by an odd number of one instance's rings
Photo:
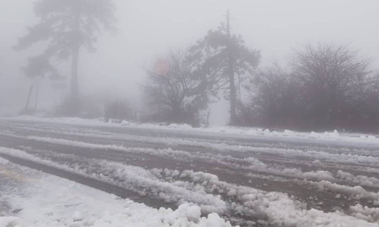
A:
{"type": "Polygon", "coordinates": [[[232,54],[232,36],[230,35],[230,14],[229,9],[226,14],[226,35],[227,35],[227,56],[228,56],[228,74],[230,85],[230,124],[236,124],[236,87],[234,83],[234,68],[232,54]]]}

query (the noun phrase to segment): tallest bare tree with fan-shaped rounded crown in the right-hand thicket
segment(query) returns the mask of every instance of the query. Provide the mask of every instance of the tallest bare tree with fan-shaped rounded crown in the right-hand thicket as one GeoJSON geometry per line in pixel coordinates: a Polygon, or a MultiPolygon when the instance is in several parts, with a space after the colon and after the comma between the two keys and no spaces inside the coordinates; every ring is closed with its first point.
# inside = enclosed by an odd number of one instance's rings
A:
{"type": "Polygon", "coordinates": [[[333,121],[347,100],[362,95],[365,81],[372,73],[371,59],[362,58],[348,45],[319,43],[304,45],[290,59],[314,119],[333,121]]]}

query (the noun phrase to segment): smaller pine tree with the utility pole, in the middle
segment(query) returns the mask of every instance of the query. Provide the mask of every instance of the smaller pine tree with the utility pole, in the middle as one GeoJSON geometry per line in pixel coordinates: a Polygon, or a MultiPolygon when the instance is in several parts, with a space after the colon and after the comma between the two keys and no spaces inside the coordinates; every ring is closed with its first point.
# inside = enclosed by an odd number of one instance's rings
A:
{"type": "Polygon", "coordinates": [[[190,61],[196,62],[195,75],[202,81],[203,90],[214,96],[224,91],[230,100],[230,124],[236,124],[237,92],[244,76],[257,67],[260,52],[246,47],[242,37],[231,35],[224,24],[209,30],[190,51],[190,61]]]}

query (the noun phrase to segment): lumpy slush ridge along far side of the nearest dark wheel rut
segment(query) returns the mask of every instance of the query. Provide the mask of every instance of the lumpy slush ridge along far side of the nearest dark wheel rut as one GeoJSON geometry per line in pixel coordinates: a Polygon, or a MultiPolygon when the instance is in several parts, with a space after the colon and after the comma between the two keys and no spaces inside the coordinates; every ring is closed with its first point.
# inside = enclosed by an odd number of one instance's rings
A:
{"type": "Polygon", "coordinates": [[[224,213],[227,210],[226,202],[224,202],[220,196],[208,194],[201,189],[191,191],[178,185],[162,181],[150,171],[138,166],[123,165],[107,160],[89,159],[87,160],[87,162],[89,162],[87,166],[81,168],[83,166],[70,166],[69,164],[58,164],[50,160],[40,159],[39,157],[16,149],[0,147],[0,154],[1,153],[77,173],[85,177],[102,180],[131,191],[157,197],[165,202],[178,204],[183,204],[188,201],[194,202],[201,207],[203,213],[224,213]]]}

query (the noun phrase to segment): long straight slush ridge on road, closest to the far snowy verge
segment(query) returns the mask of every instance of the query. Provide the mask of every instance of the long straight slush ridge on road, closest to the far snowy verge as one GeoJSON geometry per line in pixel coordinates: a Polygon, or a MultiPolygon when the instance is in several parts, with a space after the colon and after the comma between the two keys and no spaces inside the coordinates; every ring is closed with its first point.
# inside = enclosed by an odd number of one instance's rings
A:
{"type": "MultiPolygon", "coordinates": [[[[33,128],[30,128],[33,129],[33,128]]],[[[34,129],[37,130],[38,129],[34,129]]],[[[319,159],[325,163],[325,165],[334,165],[335,163],[344,164],[349,169],[351,164],[360,165],[365,167],[365,165],[378,167],[379,158],[362,156],[362,155],[346,155],[346,154],[329,154],[324,151],[299,151],[294,149],[277,149],[277,148],[264,148],[264,147],[249,147],[249,146],[240,146],[240,145],[227,145],[227,144],[218,144],[218,143],[199,143],[194,141],[183,141],[183,140],[168,140],[161,138],[151,138],[151,137],[136,137],[134,135],[109,135],[109,134],[94,134],[94,133],[78,133],[78,132],[62,132],[57,133],[58,131],[47,130],[50,136],[57,136],[58,138],[66,139],[80,139],[88,143],[97,143],[97,144],[116,144],[116,145],[125,145],[125,146],[146,146],[146,147],[155,147],[155,148],[167,148],[171,147],[172,149],[177,150],[186,150],[192,152],[221,152],[226,155],[233,155],[235,157],[244,158],[244,157],[255,157],[261,160],[266,160],[272,163],[288,163],[291,165],[296,162],[307,162],[307,165],[312,164],[311,161],[318,161],[319,159]],[[75,138],[74,138],[75,137],[75,138]],[[96,138],[91,138],[96,137],[96,138]],[[103,139],[103,137],[108,137],[109,139],[103,139]],[[132,137],[132,138],[130,138],[132,137]],[[132,140],[132,141],[128,141],[132,140]],[[134,140],[134,141],[133,141],[134,140]],[[136,141],[135,141],[136,140],[136,141]],[[169,141],[169,142],[164,142],[169,141]],[[184,143],[184,144],[183,144],[184,143]],[[189,146],[190,145],[190,146],[189,146]],[[199,148],[193,148],[198,146],[199,148]],[[262,155],[262,153],[264,155],[262,155]],[[279,155],[279,156],[278,156],[279,155]],[[321,155],[321,156],[320,156],[321,155]],[[370,165],[371,164],[371,165],[370,165]]],[[[45,132],[45,133],[46,133],[45,132]]],[[[34,132],[36,133],[36,132],[34,132]]],[[[37,132],[39,136],[46,136],[43,132],[37,132]],[[41,134],[39,134],[41,133],[41,134]]],[[[379,173],[379,170],[377,171],[379,173]]]]}

